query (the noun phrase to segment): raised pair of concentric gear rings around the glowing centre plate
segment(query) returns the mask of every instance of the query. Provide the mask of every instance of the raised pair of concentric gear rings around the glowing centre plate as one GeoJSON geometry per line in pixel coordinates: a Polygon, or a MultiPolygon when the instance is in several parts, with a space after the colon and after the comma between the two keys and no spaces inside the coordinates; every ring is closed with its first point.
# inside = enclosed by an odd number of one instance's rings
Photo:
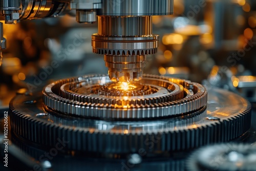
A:
{"type": "Polygon", "coordinates": [[[185,115],[201,109],[207,103],[207,91],[200,84],[152,75],[144,75],[138,81],[141,84],[158,86],[158,91],[152,95],[105,97],[88,91],[95,85],[109,82],[110,79],[104,75],[59,80],[42,91],[43,101],[48,108],[61,113],[101,119],[185,115]],[[80,88],[84,88],[84,93],[77,93],[76,90],[80,88]]]}

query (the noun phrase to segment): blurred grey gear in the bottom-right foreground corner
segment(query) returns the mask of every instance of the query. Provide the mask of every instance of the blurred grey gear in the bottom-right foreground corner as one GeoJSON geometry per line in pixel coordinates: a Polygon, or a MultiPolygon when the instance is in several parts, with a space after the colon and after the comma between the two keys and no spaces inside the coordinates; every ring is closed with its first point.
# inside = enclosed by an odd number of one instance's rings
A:
{"type": "Polygon", "coordinates": [[[256,146],[215,144],[202,147],[186,162],[187,170],[256,170],[256,146]]]}

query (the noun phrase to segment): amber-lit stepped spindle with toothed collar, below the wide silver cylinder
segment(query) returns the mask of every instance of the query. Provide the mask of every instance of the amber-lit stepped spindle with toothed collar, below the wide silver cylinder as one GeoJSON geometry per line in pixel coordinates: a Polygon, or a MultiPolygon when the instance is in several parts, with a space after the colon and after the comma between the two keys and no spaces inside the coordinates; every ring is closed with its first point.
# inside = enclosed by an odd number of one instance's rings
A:
{"type": "Polygon", "coordinates": [[[156,53],[158,37],[152,33],[152,16],[98,16],[93,52],[105,55],[112,81],[133,82],[142,79],[145,55],[156,53]],[[143,60],[133,62],[141,56],[143,60]]]}

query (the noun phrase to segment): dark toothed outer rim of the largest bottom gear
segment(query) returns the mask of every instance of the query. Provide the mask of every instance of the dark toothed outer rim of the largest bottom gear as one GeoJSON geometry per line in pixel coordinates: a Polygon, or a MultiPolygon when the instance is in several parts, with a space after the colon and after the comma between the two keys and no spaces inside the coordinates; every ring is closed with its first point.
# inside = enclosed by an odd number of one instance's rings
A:
{"type": "Polygon", "coordinates": [[[231,119],[204,124],[203,120],[206,117],[206,111],[204,111],[184,120],[184,125],[201,124],[197,127],[185,126],[183,130],[169,130],[168,126],[173,127],[174,125],[163,125],[158,130],[132,131],[124,134],[123,132],[113,133],[110,128],[106,130],[93,129],[87,122],[83,122],[83,129],[81,129],[81,125],[76,125],[74,128],[73,120],[63,120],[54,115],[47,117],[48,121],[31,118],[26,114],[16,112],[14,108],[16,104],[15,99],[10,103],[10,118],[12,129],[19,136],[47,146],[54,146],[57,138],[65,137],[70,141],[68,149],[96,153],[119,153],[121,149],[123,153],[136,153],[140,148],[146,149],[148,153],[186,151],[212,142],[232,140],[243,135],[250,127],[249,105],[244,112],[236,117],[231,117],[231,119]],[[151,138],[156,138],[156,135],[161,136],[152,146],[151,138]],[[145,140],[148,142],[145,143],[145,140]]]}

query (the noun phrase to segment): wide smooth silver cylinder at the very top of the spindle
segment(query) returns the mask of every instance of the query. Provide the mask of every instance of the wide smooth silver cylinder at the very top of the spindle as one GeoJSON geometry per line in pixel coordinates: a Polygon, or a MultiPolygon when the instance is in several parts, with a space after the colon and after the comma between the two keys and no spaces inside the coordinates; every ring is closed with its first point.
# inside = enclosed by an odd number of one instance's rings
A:
{"type": "Polygon", "coordinates": [[[99,15],[171,15],[173,0],[103,0],[99,15]]]}

